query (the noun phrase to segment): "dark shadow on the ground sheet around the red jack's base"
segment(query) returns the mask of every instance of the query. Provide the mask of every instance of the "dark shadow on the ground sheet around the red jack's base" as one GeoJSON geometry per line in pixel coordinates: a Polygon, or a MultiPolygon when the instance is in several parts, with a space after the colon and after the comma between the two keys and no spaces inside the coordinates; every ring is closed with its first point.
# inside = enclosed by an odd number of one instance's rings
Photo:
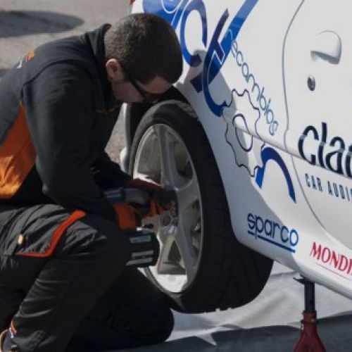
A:
{"type": "MultiPolygon", "coordinates": [[[[270,326],[214,332],[199,337],[186,337],[165,344],[120,350],[128,352],[286,352],[293,351],[300,337],[294,327],[270,326]]],[[[318,325],[320,338],[327,351],[352,351],[352,315],[325,318],[318,325]]],[[[104,351],[105,352],[105,351],[104,351]]],[[[107,351],[106,351],[107,352],[107,351]]]]}

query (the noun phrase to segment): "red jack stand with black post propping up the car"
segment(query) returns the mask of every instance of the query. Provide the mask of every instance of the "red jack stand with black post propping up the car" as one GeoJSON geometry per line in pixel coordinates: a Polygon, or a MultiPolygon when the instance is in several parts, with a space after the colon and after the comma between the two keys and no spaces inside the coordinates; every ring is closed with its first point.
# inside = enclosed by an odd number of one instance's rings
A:
{"type": "Polygon", "coordinates": [[[304,284],[305,310],[303,311],[303,320],[301,320],[301,337],[294,348],[294,352],[326,352],[318,335],[314,283],[305,278],[297,281],[304,284]]]}

